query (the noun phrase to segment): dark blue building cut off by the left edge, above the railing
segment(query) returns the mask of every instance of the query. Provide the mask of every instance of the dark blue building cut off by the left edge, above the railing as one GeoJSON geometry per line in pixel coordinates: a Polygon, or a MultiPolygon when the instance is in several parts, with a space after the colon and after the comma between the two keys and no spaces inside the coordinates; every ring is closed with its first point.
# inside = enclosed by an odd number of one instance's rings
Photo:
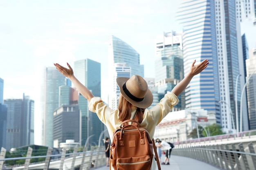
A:
{"type": "Polygon", "coordinates": [[[0,103],[0,148],[5,148],[7,124],[7,106],[0,103]]]}

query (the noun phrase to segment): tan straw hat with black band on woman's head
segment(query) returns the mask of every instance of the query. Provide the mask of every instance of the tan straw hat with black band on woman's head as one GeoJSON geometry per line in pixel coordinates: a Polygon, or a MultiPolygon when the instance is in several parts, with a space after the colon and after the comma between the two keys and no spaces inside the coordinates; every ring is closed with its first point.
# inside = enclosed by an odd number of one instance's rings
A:
{"type": "Polygon", "coordinates": [[[118,77],[117,85],[121,94],[133,106],[148,108],[153,102],[153,95],[148,89],[147,82],[139,75],[130,78],[118,77]]]}

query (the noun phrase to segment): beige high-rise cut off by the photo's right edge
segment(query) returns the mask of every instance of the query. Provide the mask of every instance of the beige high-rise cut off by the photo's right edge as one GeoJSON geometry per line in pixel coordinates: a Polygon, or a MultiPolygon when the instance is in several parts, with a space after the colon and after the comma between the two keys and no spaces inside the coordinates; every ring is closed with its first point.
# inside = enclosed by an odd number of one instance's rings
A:
{"type": "Polygon", "coordinates": [[[246,60],[247,71],[247,102],[249,113],[249,129],[256,129],[256,49],[249,49],[249,59],[246,60]],[[251,76],[249,78],[249,76],[251,76]]]}

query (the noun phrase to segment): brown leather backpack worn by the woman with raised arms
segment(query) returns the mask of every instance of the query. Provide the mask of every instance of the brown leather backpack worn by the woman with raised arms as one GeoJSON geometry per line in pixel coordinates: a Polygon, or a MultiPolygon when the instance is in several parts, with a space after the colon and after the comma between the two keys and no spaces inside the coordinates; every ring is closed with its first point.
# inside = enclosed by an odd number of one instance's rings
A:
{"type": "Polygon", "coordinates": [[[148,131],[141,128],[139,122],[126,120],[114,132],[110,163],[115,170],[150,170],[154,161],[153,149],[158,169],[161,170],[154,139],[150,139],[148,131]]]}

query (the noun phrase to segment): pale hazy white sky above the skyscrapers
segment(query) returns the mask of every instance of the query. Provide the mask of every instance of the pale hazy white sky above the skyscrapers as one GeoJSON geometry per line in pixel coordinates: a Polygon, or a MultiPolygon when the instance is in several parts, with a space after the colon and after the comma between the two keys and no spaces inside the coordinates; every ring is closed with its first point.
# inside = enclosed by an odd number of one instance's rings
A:
{"type": "Polygon", "coordinates": [[[175,24],[176,0],[1,0],[0,77],[4,99],[39,96],[40,71],[90,58],[107,79],[108,38],[115,35],[140,54],[154,77],[154,40],[175,24]]]}

